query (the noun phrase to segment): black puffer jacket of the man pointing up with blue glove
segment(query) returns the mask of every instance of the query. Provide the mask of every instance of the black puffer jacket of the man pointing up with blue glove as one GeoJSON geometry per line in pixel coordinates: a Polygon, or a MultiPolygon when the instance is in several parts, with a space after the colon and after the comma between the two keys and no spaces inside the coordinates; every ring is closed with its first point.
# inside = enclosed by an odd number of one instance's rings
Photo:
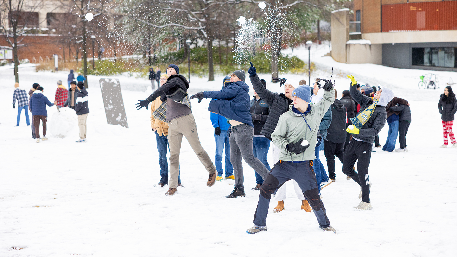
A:
{"type": "Polygon", "coordinates": [[[273,93],[266,89],[257,74],[253,77],[249,76],[249,79],[251,80],[255,93],[257,93],[260,96],[260,99],[264,100],[270,107],[270,114],[268,115],[268,119],[266,119],[265,125],[263,126],[262,131],[260,131],[260,134],[264,135],[271,141],[271,133],[275,131],[279,116],[289,110],[289,105],[292,103],[292,100],[288,99],[283,93],[273,93]]]}

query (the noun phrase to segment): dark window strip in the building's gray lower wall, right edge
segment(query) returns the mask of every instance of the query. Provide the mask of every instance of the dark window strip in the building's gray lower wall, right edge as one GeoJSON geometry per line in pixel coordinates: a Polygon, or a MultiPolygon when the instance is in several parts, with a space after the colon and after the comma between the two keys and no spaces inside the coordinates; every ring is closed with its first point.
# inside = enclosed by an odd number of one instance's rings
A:
{"type": "Polygon", "coordinates": [[[457,68],[457,48],[454,47],[414,47],[412,65],[457,68]]]}

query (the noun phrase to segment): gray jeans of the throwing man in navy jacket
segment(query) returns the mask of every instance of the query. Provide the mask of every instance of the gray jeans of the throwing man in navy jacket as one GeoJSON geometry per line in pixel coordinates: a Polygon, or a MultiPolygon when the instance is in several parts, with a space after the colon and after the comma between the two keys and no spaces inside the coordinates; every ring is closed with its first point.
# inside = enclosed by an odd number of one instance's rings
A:
{"type": "Polygon", "coordinates": [[[232,163],[235,175],[235,187],[244,191],[244,175],[243,175],[243,162],[246,163],[259,173],[265,179],[266,175],[270,172],[262,162],[252,153],[252,138],[254,137],[254,128],[241,124],[232,127],[230,132],[230,162],[232,163]]]}

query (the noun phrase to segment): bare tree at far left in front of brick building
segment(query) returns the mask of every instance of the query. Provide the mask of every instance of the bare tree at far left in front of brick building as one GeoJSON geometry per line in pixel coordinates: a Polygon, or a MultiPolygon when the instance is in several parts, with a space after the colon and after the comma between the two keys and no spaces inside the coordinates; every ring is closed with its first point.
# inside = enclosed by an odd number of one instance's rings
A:
{"type": "Polygon", "coordinates": [[[39,28],[38,13],[43,1],[27,0],[1,0],[0,14],[7,16],[7,19],[0,19],[0,27],[6,42],[13,47],[14,75],[16,82],[19,82],[17,65],[19,59],[17,51],[19,47],[25,47],[21,42],[27,34],[39,28]]]}

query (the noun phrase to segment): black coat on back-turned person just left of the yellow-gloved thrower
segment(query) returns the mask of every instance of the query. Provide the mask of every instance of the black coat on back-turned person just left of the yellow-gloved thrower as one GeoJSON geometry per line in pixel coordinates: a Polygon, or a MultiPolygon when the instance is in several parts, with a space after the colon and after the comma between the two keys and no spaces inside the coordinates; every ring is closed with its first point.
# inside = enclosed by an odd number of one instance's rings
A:
{"type": "Polygon", "coordinates": [[[327,129],[327,140],[332,143],[346,142],[346,107],[335,99],[332,108],[332,122],[327,129]]]}

